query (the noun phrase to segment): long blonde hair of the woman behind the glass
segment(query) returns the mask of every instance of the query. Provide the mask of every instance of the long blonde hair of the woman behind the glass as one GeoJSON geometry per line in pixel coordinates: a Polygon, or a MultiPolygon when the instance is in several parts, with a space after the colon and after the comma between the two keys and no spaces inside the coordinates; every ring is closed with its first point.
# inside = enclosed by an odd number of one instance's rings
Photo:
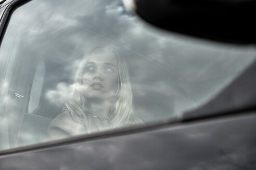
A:
{"type": "MultiPolygon", "coordinates": [[[[91,57],[92,52],[95,49],[103,48],[112,51],[116,54],[118,60],[117,73],[118,73],[118,90],[116,94],[111,98],[111,106],[109,111],[109,122],[111,128],[123,126],[129,124],[129,118],[132,113],[132,88],[131,81],[128,73],[127,66],[124,59],[121,58],[115,51],[109,47],[98,46],[91,50],[88,50],[79,64],[78,70],[75,74],[74,84],[71,89],[71,93],[66,102],[66,107],[70,111],[72,118],[79,124],[87,124],[87,114],[91,112],[88,108],[86,96],[83,93],[82,75],[84,67],[91,57]]],[[[88,127],[87,127],[88,128],[88,127]]]]}

